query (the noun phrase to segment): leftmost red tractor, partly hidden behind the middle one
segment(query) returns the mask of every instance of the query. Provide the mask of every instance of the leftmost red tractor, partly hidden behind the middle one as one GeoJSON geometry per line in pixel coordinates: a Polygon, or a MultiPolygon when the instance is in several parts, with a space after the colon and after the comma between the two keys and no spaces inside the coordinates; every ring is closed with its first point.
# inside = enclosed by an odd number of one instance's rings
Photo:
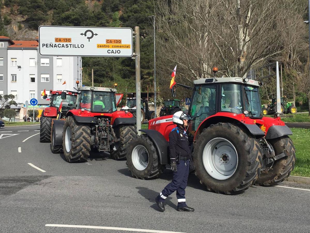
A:
{"type": "MultiPolygon", "coordinates": [[[[51,142],[51,128],[52,119],[56,119],[60,114],[60,105],[62,115],[65,116],[66,112],[71,109],[73,103],[77,98],[77,92],[64,91],[68,93],[66,99],[61,99],[61,91],[50,90],[50,107],[43,110],[40,118],[40,142],[51,142]]],[[[47,95],[43,96],[43,99],[47,99],[47,95]]]]}

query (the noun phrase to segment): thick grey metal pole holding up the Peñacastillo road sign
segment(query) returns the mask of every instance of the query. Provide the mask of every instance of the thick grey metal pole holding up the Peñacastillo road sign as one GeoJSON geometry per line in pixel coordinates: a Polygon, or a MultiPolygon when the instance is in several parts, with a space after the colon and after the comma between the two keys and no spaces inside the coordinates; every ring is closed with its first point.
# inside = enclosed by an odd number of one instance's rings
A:
{"type": "Polygon", "coordinates": [[[136,120],[137,132],[141,135],[141,82],[140,82],[140,28],[135,26],[135,73],[136,73],[136,120]]]}

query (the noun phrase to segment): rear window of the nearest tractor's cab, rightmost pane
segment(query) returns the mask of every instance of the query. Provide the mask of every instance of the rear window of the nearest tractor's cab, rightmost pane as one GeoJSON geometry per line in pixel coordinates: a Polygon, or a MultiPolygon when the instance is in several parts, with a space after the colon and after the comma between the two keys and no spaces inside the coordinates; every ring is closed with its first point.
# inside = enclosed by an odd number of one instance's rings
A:
{"type": "Polygon", "coordinates": [[[246,116],[250,117],[260,117],[261,115],[261,105],[259,92],[257,87],[244,86],[245,91],[245,110],[248,110],[249,113],[246,116]]]}

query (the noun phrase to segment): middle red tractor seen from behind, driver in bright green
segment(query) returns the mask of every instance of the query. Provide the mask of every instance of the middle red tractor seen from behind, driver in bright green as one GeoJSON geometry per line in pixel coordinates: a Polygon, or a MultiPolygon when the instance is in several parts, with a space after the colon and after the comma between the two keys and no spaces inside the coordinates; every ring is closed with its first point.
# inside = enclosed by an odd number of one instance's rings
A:
{"type": "MultiPolygon", "coordinates": [[[[79,87],[74,108],[65,120],[53,120],[51,151],[64,152],[68,162],[86,161],[90,151],[109,151],[115,160],[125,159],[127,147],[136,137],[135,118],[117,111],[116,89],[79,87]]],[[[66,99],[62,93],[62,99],[66,99]]]]}

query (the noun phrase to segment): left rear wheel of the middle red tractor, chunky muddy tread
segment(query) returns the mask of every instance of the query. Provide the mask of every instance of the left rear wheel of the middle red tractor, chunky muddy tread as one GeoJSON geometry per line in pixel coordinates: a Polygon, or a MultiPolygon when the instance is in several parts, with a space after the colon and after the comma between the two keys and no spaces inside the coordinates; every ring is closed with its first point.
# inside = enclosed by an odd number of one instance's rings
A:
{"type": "Polygon", "coordinates": [[[69,116],[64,123],[63,132],[64,158],[68,162],[85,162],[91,150],[91,128],[75,122],[69,116]]]}

